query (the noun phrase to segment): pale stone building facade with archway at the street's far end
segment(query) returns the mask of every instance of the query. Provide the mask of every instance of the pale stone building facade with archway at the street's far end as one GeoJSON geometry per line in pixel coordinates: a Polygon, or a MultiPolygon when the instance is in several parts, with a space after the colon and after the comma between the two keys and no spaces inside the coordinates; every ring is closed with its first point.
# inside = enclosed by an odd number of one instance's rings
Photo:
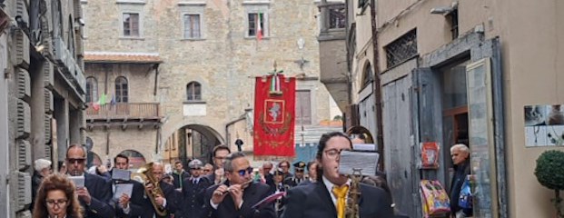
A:
{"type": "MultiPolygon", "coordinates": [[[[304,130],[330,120],[331,96],[319,82],[316,4],[303,0],[83,0],[86,74],[97,79],[98,95],[105,73],[94,65],[104,63],[113,69],[112,76],[127,78],[129,103],[158,104],[160,117],[155,120],[160,124],[151,130],[111,130],[110,141],[143,143],[111,144],[109,150],[98,146],[107,141],[105,134],[97,132],[105,127],[88,130],[96,144],[94,152],[112,157],[131,149],[146,161],[173,162],[175,156],[183,159],[183,154],[194,151],[184,147],[191,151],[170,154],[167,149],[179,141],[203,143],[202,149],[195,150],[199,154],[193,155],[205,156],[213,145],[233,144],[236,134],[252,140],[252,129],[246,124],[252,121],[246,117],[252,113],[253,78],[272,72],[274,63],[287,76],[299,78],[297,89],[309,111],[304,114],[304,130]],[[259,23],[262,40],[256,37],[259,23]],[[153,56],[159,64],[153,68],[149,66],[155,63],[136,64],[132,57],[143,55],[153,56]],[[120,58],[127,60],[118,63],[115,59],[120,58]],[[145,69],[134,71],[124,65],[145,69]],[[245,124],[236,124],[240,122],[245,124]]],[[[110,88],[104,91],[111,96],[115,79],[107,81],[110,88]]],[[[252,141],[245,144],[251,146],[252,141]]]]}

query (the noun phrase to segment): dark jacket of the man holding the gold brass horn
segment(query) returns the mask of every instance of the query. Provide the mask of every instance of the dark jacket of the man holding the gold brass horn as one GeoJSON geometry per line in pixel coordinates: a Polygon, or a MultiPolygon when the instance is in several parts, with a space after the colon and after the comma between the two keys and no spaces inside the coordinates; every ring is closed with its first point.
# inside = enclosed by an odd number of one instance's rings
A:
{"type": "MultiPolygon", "coordinates": [[[[161,190],[163,190],[163,194],[164,194],[163,197],[166,199],[166,206],[164,206],[164,209],[166,209],[167,216],[164,217],[168,217],[174,212],[176,212],[176,210],[178,209],[179,200],[181,199],[180,196],[181,193],[177,192],[174,189],[174,186],[169,183],[161,182],[159,183],[159,187],[161,187],[161,190]]],[[[154,207],[153,207],[153,203],[151,203],[151,199],[148,196],[146,196],[146,194],[143,197],[145,198],[143,203],[144,212],[141,217],[153,218],[153,214],[155,217],[159,217],[154,211],[154,207]]]]}

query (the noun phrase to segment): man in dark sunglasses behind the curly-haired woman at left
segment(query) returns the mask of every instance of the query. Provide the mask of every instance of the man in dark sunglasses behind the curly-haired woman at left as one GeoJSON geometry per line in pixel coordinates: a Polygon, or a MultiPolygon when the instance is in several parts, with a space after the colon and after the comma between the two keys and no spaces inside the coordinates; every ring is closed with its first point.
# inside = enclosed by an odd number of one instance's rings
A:
{"type": "Polygon", "coordinates": [[[112,186],[104,178],[84,173],[86,150],[80,144],[72,144],[66,150],[67,173],[72,176],[84,176],[84,187],[77,187],[78,200],[84,207],[85,218],[114,217],[112,186]]]}

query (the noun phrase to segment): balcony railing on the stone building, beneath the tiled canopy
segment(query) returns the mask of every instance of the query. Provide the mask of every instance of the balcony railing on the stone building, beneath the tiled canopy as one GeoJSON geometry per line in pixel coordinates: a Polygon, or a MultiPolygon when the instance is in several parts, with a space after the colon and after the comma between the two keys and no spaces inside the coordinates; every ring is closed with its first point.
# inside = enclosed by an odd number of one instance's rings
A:
{"type": "Polygon", "coordinates": [[[104,104],[98,110],[86,109],[86,119],[158,119],[158,103],[104,104]]]}

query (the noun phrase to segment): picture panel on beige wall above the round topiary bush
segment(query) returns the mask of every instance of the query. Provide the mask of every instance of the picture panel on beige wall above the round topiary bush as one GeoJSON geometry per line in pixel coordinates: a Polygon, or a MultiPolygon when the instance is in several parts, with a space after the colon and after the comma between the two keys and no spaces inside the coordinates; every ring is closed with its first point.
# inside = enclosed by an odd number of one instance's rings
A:
{"type": "Polygon", "coordinates": [[[525,145],[564,145],[564,105],[525,106],[525,145]]]}

